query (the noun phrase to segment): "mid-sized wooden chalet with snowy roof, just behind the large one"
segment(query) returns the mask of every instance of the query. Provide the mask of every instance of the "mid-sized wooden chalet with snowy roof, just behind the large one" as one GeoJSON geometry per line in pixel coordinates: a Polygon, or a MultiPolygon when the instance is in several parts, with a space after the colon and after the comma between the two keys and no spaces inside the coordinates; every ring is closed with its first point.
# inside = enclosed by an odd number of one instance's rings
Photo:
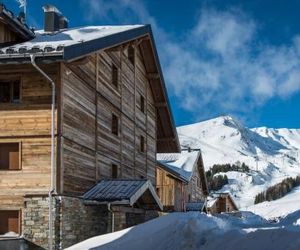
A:
{"type": "Polygon", "coordinates": [[[204,205],[208,188],[200,150],[158,154],[157,160],[156,191],[164,211],[186,211],[204,205]]]}

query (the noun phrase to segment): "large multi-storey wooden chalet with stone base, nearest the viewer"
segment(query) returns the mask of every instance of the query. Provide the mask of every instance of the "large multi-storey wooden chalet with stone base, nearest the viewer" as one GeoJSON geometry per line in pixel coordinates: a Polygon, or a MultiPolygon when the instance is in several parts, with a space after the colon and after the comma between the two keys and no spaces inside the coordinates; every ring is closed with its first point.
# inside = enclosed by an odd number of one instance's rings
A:
{"type": "Polygon", "coordinates": [[[0,5],[0,235],[61,249],[156,216],[156,154],[180,145],[149,25],[44,11],[34,33],[0,5]]]}

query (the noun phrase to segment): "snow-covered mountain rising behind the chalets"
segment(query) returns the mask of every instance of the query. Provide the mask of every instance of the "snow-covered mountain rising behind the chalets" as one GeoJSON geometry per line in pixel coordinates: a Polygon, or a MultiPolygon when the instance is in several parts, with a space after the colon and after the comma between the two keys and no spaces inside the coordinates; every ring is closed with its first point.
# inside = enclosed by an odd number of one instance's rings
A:
{"type": "MultiPolygon", "coordinates": [[[[206,169],[213,164],[246,163],[250,173],[227,172],[230,191],[240,207],[287,177],[300,175],[300,129],[249,129],[230,116],[178,127],[183,147],[200,148],[206,169]]],[[[300,195],[300,193],[299,193],[300,195]]]]}

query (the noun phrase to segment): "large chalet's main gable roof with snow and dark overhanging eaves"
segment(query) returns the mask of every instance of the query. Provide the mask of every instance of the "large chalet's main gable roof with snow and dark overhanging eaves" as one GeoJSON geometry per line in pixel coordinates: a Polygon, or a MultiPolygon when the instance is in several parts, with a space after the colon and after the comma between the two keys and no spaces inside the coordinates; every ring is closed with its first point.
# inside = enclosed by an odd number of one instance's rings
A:
{"type": "Polygon", "coordinates": [[[34,54],[37,63],[70,62],[102,49],[116,47],[138,38],[145,68],[149,75],[157,109],[157,152],[180,152],[179,139],[150,25],[88,26],[39,31],[28,42],[0,50],[1,64],[30,63],[34,54]]]}

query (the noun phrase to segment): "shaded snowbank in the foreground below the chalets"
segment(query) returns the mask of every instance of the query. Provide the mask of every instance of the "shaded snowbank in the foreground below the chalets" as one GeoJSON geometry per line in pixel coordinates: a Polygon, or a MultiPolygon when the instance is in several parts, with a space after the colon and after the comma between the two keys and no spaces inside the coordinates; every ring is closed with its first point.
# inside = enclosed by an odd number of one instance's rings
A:
{"type": "Polygon", "coordinates": [[[243,218],[198,212],[172,213],[119,232],[97,236],[69,250],[299,250],[300,212],[270,223],[250,212],[243,218]]]}

